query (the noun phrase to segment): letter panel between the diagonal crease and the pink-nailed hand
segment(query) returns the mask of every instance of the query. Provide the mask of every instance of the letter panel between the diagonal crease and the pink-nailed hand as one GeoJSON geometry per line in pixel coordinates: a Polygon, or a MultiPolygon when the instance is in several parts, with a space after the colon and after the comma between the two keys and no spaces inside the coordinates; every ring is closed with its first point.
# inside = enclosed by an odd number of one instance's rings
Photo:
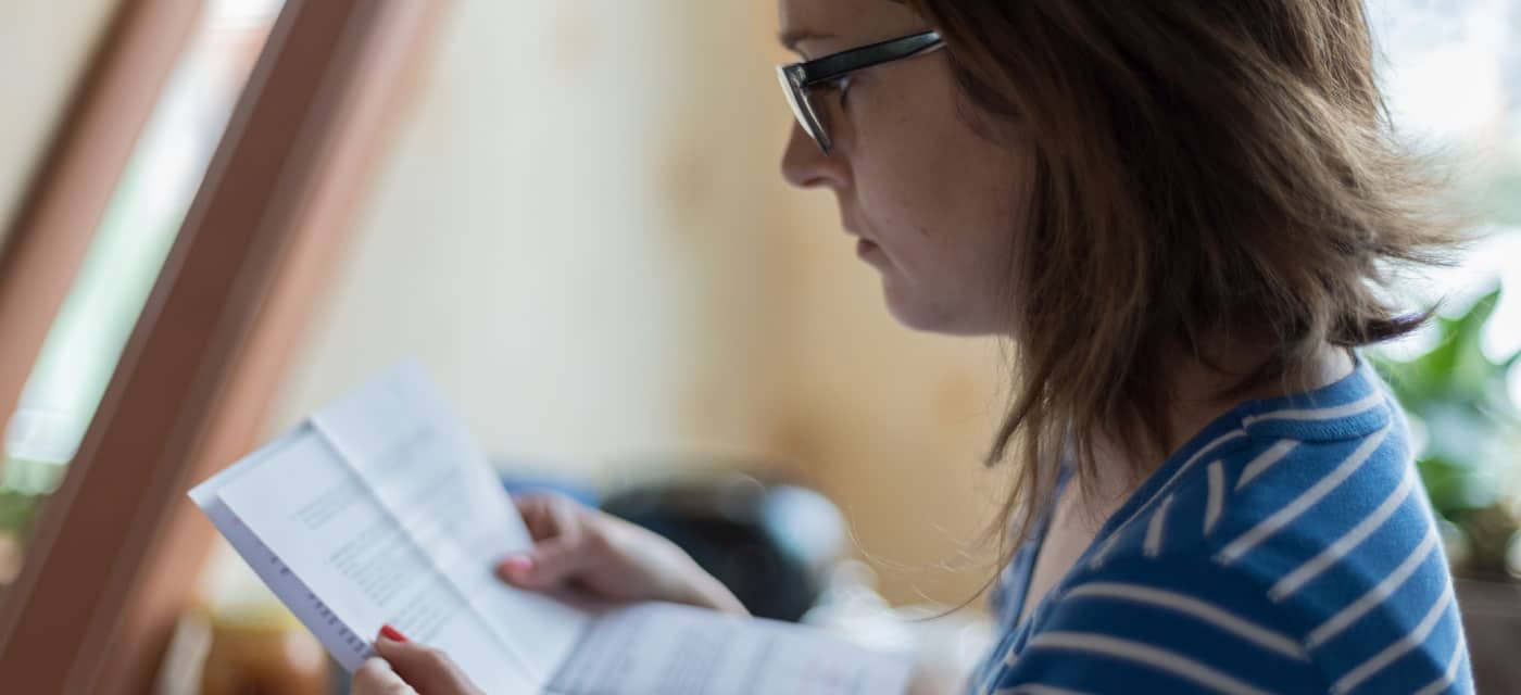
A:
{"type": "Polygon", "coordinates": [[[548,683],[590,614],[508,587],[493,564],[532,540],[496,473],[421,370],[403,365],[312,417],[497,639],[548,683]]]}

